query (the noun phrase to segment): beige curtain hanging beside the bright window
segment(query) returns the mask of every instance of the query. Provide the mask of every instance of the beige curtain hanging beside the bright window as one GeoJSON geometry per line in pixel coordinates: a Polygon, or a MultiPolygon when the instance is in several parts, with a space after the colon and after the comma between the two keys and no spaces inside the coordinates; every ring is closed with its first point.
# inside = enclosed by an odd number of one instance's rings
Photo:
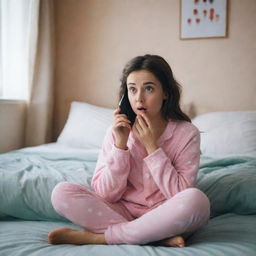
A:
{"type": "Polygon", "coordinates": [[[25,146],[48,143],[52,139],[53,1],[41,0],[38,3],[39,12],[35,11],[35,15],[32,15],[30,20],[29,98],[25,125],[25,146]],[[38,17],[35,17],[36,15],[38,17]],[[34,23],[37,23],[38,26],[34,26],[34,23]]]}

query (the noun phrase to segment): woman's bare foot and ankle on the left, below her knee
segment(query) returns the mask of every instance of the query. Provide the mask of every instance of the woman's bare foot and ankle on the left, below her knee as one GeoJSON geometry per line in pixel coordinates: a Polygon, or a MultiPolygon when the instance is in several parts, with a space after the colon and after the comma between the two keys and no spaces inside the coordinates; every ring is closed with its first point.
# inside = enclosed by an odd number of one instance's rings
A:
{"type": "Polygon", "coordinates": [[[95,234],[87,230],[58,228],[48,234],[50,244],[106,244],[104,234],[95,234]]]}

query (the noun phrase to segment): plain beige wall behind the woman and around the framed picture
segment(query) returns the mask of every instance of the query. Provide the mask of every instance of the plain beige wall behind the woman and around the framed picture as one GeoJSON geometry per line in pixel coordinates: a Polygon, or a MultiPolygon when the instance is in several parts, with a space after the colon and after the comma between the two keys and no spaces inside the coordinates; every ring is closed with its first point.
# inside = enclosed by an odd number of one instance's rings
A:
{"type": "Polygon", "coordinates": [[[124,64],[159,54],[198,114],[256,110],[256,1],[229,1],[226,39],[180,40],[179,0],[55,0],[59,134],[68,103],[115,107],[124,64]]]}

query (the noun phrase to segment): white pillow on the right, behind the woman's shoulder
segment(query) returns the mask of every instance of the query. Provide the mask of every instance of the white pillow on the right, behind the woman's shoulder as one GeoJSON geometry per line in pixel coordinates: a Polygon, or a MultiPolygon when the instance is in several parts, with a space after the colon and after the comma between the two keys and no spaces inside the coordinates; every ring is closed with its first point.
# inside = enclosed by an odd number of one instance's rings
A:
{"type": "Polygon", "coordinates": [[[192,120],[201,133],[201,152],[211,157],[256,157],[256,111],[212,112],[192,120]]]}

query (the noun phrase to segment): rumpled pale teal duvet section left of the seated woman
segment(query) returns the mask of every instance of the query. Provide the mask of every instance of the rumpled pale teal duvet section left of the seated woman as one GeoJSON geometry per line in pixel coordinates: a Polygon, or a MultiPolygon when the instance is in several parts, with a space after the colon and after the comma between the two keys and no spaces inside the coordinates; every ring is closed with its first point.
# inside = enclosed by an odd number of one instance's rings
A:
{"type": "Polygon", "coordinates": [[[90,188],[97,153],[31,153],[0,155],[0,218],[65,220],[51,205],[51,192],[61,181],[90,188]]]}

